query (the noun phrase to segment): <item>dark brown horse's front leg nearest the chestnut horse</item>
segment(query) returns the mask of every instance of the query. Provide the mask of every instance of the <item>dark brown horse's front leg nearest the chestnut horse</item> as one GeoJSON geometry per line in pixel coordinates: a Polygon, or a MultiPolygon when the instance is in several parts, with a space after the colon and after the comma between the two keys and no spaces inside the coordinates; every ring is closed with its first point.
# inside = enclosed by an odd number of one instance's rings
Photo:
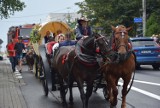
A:
{"type": "Polygon", "coordinates": [[[93,81],[87,82],[85,106],[88,108],[88,101],[93,91],[93,81]]]}

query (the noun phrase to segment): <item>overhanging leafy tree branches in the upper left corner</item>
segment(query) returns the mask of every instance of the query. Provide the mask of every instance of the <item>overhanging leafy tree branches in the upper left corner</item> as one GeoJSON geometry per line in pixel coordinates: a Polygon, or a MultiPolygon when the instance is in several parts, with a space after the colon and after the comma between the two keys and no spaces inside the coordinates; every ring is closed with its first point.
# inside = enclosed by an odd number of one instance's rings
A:
{"type": "Polygon", "coordinates": [[[0,17],[7,19],[15,11],[22,11],[26,5],[21,0],[0,0],[0,17]]]}

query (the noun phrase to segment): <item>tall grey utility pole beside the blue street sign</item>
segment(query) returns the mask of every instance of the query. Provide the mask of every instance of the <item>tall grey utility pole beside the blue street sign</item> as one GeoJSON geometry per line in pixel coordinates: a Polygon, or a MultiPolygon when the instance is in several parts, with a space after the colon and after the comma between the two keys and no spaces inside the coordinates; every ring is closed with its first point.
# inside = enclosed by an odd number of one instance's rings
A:
{"type": "Polygon", "coordinates": [[[143,10],[143,36],[146,34],[146,0],[142,0],[142,10],[143,10]]]}

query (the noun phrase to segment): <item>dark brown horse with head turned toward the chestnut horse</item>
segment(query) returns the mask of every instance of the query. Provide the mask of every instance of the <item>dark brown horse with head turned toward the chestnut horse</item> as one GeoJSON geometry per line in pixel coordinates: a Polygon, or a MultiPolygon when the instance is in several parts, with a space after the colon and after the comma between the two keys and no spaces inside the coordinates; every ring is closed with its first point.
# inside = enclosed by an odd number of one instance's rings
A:
{"type": "Polygon", "coordinates": [[[96,47],[99,47],[99,54],[104,55],[107,40],[104,36],[93,34],[92,37],[79,40],[75,48],[61,47],[53,59],[53,71],[59,75],[60,93],[64,106],[67,106],[65,99],[65,86],[67,83],[70,91],[70,103],[73,103],[72,87],[76,81],[83,108],[88,108],[89,97],[92,94],[93,82],[98,73],[99,64],[97,62],[96,47]],[[84,90],[86,84],[86,92],[84,90]]]}

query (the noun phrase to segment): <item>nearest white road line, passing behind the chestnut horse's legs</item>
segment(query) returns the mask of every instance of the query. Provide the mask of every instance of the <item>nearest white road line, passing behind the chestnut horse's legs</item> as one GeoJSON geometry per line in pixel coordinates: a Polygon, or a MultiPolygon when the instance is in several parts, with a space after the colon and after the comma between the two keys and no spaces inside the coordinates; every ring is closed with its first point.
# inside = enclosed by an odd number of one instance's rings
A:
{"type": "MultiPolygon", "coordinates": [[[[121,82],[118,82],[118,84],[121,85],[121,86],[123,85],[123,83],[121,83],[121,82]]],[[[156,94],[153,94],[153,93],[151,93],[151,92],[148,92],[148,91],[145,91],[145,90],[142,90],[142,89],[133,87],[133,86],[131,87],[131,89],[134,90],[134,91],[137,91],[137,92],[139,92],[139,93],[142,93],[142,94],[144,94],[144,95],[146,95],[146,96],[149,96],[149,97],[152,97],[152,98],[154,98],[154,99],[160,100],[160,96],[158,96],[158,95],[156,95],[156,94]]]]}

